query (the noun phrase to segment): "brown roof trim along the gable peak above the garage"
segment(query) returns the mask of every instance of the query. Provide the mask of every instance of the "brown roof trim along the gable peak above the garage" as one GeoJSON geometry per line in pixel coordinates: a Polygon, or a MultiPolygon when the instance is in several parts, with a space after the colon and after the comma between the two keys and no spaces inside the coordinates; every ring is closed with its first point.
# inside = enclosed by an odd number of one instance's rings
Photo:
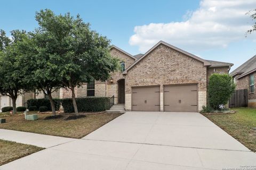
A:
{"type": "Polygon", "coordinates": [[[165,46],[167,46],[167,47],[170,47],[170,48],[172,48],[172,49],[175,49],[175,50],[177,50],[178,52],[183,53],[183,54],[186,54],[186,55],[188,55],[188,56],[190,56],[190,57],[192,57],[192,58],[195,58],[196,60],[201,61],[202,63],[204,63],[205,66],[211,65],[210,62],[204,60],[203,58],[197,57],[197,56],[195,56],[195,55],[193,55],[193,54],[191,54],[191,53],[186,52],[185,50],[182,50],[182,49],[177,48],[177,47],[175,47],[175,46],[173,46],[173,45],[170,45],[170,44],[168,44],[168,43],[165,43],[164,41],[159,41],[154,47],[152,47],[151,49],[149,49],[147,53],[145,53],[144,55],[142,55],[137,61],[135,61],[132,65],[130,65],[130,66],[123,72],[123,74],[127,74],[127,71],[128,71],[128,70],[130,70],[134,65],[136,65],[138,62],[140,62],[145,56],[147,56],[151,51],[153,51],[156,47],[158,47],[158,46],[161,45],[161,44],[163,44],[163,45],[165,45],[165,46]]]}

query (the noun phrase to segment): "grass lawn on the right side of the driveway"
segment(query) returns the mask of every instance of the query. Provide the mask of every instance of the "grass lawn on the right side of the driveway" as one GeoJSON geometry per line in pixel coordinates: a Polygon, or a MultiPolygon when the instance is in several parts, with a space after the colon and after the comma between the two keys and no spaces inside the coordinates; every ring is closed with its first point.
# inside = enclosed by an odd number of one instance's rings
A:
{"type": "Polygon", "coordinates": [[[232,108],[235,114],[203,114],[244,146],[256,152],[256,109],[232,108]]]}

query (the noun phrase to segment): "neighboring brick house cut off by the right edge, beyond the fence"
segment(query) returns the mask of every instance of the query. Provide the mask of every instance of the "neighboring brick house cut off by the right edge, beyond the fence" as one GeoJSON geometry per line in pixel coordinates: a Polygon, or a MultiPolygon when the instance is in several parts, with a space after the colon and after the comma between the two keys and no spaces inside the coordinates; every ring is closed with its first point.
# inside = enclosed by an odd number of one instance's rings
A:
{"type": "Polygon", "coordinates": [[[247,89],[248,106],[256,108],[256,55],[237,67],[230,75],[234,78],[237,90],[247,89]]]}

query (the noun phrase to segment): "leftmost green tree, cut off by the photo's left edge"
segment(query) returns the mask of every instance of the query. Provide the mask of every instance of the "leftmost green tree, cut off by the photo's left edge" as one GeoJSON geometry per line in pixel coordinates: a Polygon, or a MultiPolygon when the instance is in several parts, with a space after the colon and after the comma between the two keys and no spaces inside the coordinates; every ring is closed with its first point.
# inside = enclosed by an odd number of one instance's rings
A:
{"type": "MultiPolygon", "coordinates": [[[[29,45],[26,31],[11,31],[12,39],[0,31],[0,93],[12,99],[13,113],[16,110],[16,100],[20,94],[30,90],[29,83],[23,81],[26,73],[23,71],[19,57],[26,55],[29,45]]],[[[25,62],[25,61],[22,61],[25,62]]]]}

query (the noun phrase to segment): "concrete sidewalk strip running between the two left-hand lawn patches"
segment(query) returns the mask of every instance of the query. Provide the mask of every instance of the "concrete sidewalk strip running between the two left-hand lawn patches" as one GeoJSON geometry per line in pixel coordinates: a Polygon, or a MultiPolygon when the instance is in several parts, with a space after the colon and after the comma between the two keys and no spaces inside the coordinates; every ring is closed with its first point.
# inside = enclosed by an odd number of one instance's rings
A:
{"type": "Polygon", "coordinates": [[[0,129],[0,139],[34,145],[42,148],[50,148],[61,145],[63,143],[77,140],[73,138],[55,137],[52,135],[12,131],[5,129],[0,129]]]}

